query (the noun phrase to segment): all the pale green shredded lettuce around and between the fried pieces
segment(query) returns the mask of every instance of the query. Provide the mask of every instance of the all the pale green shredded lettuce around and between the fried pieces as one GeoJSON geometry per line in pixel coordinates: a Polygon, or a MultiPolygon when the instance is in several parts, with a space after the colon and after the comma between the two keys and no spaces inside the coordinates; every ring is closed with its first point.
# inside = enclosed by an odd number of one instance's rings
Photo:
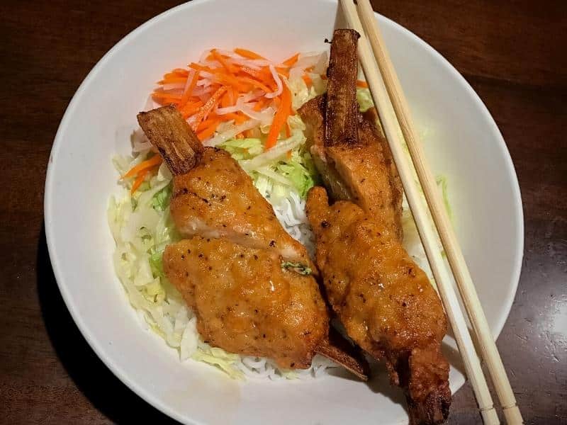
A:
{"type": "MultiPolygon", "coordinates": [[[[327,82],[320,77],[327,67],[327,56],[305,55],[291,70],[287,81],[292,95],[292,108],[297,110],[310,98],[322,94],[327,82]],[[305,68],[315,64],[314,74],[308,74],[313,85],[308,88],[301,78],[305,68]],[[294,74],[296,77],[294,78],[294,74]]],[[[374,106],[368,89],[357,89],[360,110],[374,106]]],[[[298,115],[288,118],[288,137],[281,135],[275,147],[264,151],[269,125],[249,120],[242,125],[223,124],[207,145],[218,145],[230,152],[252,177],[254,186],[274,207],[276,217],[292,237],[302,242],[310,254],[314,254],[313,233],[305,215],[305,196],[318,183],[313,159],[305,149],[305,125],[298,115]],[[243,130],[255,130],[255,137],[236,139],[243,130]]],[[[283,133],[283,132],[282,132],[283,133]]],[[[147,159],[150,153],[147,139],[142,132],[133,134],[135,157],[115,157],[113,164],[118,174],[147,159]]],[[[181,361],[192,358],[214,365],[231,378],[263,377],[272,380],[317,377],[327,368],[336,367],[332,361],[315,356],[307,370],[283,370],[269,358],[240,356],[206,344],[196,329],[196,317],[183,298],[164,275],[162,256],[165,247],[179,241],[169,212],[172,194],[172,175],[162,164],[155,176],[130,194],[133,179],[119,181],[120,194],[111,197],[108,205],[108,224],[116,242],[113,262],[123,283],[128,300],[148,327],[161,336],[172,348],[179,351],[181,361]]],[[[447,179],[437,178],[449,215],[451,209],[447,194],[447,179]]],[[[429,271],[425,253],[420,244],[410,210],[404,200],[404,245],[415,261],[429,271]]],[[[283,263],[283,267],[296,268],[295,263],[283,263]]],[[[305,268],[303,273],[310,270],[305,268]]],[[[428,273],[429,275],[431,273],[428,273]]]]}

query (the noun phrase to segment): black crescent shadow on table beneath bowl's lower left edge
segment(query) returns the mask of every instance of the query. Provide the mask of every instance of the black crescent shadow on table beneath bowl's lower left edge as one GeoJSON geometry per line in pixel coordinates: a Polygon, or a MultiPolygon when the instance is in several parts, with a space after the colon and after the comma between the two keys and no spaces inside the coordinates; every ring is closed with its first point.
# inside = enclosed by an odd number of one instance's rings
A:
{"type": "Polygon", "coordinates": [[[38,294],[47,334],[62,365],[96,409],[116,424],[178,424],[135,395],[96,356],[63,302],[51,268],[45,228],[38,244],[38,294]]]}

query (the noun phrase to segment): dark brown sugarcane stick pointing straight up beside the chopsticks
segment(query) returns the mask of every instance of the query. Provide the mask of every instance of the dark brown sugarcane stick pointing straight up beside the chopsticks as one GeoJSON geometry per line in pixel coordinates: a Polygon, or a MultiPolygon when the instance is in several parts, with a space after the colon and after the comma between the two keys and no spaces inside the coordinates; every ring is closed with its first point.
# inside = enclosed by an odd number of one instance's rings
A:
{"type": "Polygon", "coordinates": [[[335,30],[327,69],[325,146],[358,142],[358,57],[355,30],[335,30]]]}

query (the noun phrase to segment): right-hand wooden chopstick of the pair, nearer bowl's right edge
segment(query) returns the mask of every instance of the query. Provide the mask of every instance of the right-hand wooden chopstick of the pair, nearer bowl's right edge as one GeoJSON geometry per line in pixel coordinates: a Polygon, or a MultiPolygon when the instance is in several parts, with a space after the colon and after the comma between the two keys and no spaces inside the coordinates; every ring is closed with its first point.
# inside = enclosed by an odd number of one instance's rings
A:
{"type": "Polygon", "coordinates": [[[395,115],[398,118],[403,137],[408,145],[417,177],[420,180],[425,198],[429,204],[437,232],[439,232],[439,238],[447,254],[456,283],[459,286],[466,312],[471,320],[483,358],[488,366],[490,378],[493,380],[496,393],[500,399],[506,422],[508,424],[522,424],[522,415],[517,407],[514,392],[512,392],[498,348],[496,348],[495,341],[492,334],[490,334],[490,328],[488,327],[481,302],[476,294],[471,273],[468,271],[461,247],[456,239],[441,196],[439,196],[435,179],[425,160],[422,143],[415,131],[408,102],[405,100],[400,81],[397,74],[395,74],[395,69],[390,60],[388,50],[386,50],[386,44],[383,42],[382,34],[378,28],[378,23],[369,0],[359,0],[358,11],[366,37],[374,52],[374,58],[378,63],[386,84],[386,89],[395,115]]]}

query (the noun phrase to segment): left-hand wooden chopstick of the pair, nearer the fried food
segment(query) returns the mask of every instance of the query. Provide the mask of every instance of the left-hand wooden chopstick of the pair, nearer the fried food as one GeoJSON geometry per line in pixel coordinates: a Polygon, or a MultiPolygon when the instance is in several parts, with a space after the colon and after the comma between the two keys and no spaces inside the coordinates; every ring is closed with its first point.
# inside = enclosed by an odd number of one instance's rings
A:
{"type": "MultiPolygon", "coordinates": [[[[340,4],[349,26],[357,30],[361,35],[359,40],[359,60],[366,76],[366,82],[369,84],[372,98],[378,109],[378,114],[380,115],[380,120],[384,132],[386,133],[386,138],[388,139],[395,164],[398,167],[398,173],[403,183],[405,196],[408,199],[412,215],[420,233],[420,238],[422,239],[427,259],[430,262],[433,276],[437,281],[439,295],[443,301],[447,317],[454,331],[455,339],[459,346],[461,357],[463,358],[466,375],[473,387],[483,421],[485,424],[499,424],[500,421],[495,412],[492,397],[490,396],[490,391],[488,390],[488,385],[483,375],[481,363],[476,355],[471,335],[468,333],[468,327],[466,326],[463,312],[461,312],[459,300],[456,297],[441,253],[439,249],[437,249],[437,237],[432,229],[427,205],[425,205],[420,196],[419,189],[413,179],[412,165],[403,150],[403,140],[400,137],[400,127],[395,118],[393,105],[388,96],[388,91],[382,79],[381,72],[372,55],[369,42],[366,39],[364,29],[357,14],[357,8],[354,6],[352,0],[340,0],[340,4]]],[[[374,19],[374,12],[372,13],[372,19],[374,19]]],[[[436,187],[434,187],[433,192],[437,194],[436,187]]]]}

